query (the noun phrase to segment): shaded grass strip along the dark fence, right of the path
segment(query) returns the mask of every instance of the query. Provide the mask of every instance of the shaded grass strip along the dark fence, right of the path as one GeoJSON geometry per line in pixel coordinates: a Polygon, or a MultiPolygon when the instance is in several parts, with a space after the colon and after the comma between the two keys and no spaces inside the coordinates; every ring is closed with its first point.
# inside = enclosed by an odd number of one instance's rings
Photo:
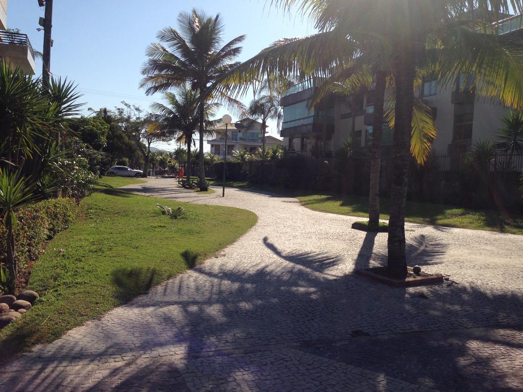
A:
{"type": "MultiPolygon", "coordinates": [[[[214,181],[213,185],[221,185],[214,181]]],[[[260,189],[248,182],[229,181],[226,186],[245,189],[260,189]]],[[[368,217],[368,198],[357,195],[312,194],[306,191],[290,191],[282,188],[263,187],[297,198],[311,210],[332,214],[368,217]]],[[[389,199],[380,200],[380,218],[389,219],[389,199]]],[[[503,216],[498,211],[472,210],[445,204],[407,201],[405,220],[412,223],[435,226],[460,227],[493,232],[523,235],[523,216],[503,216]]]]}

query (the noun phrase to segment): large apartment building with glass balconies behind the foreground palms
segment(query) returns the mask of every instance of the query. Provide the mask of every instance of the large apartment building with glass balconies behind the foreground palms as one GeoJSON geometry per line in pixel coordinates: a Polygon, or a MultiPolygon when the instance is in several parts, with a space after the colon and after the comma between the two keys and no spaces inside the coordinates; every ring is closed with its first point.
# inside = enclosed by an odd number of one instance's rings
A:
{"type": "MultiPolygon", "coordinates": [[[[499,34],[522,35],[522,16],[502,20],[499,34]]],[[[452,88],[441,88],[435,78],[427,78],[418,91],[418,96],[433,109],[435,116],[438,136],[433,141],[434,154],[463,153],[480,139],[495,140],[508,110],[499,102],[477,97],[469,88],[471,80],[464,80],[461,76],[456,79],[452,88]]],[[[373,91],[355,97],[354,113],[352,98],[327,100],[323,109],[309,110],[308,100],[316,87],[316,81],[301,83],[288,89],[281,98],[281,135],[286,149],[313,156],[322,152],[329,156],[349,137],[359,146],[369,146],[372,140],[373,91]]],[[[384,126],[382,144],[391,145],[392,141],[393,130],[384,126]]]]}

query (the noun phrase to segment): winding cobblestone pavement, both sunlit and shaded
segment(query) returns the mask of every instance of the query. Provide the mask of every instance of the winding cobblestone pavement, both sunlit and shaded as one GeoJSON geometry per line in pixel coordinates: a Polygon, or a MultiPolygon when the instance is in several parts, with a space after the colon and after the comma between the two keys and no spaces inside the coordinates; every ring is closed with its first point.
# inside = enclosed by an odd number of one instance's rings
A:
{"type": "MultiPolygon", "coordinates": [[[[523,236],[408,224],[409,264],[445,284],[354,275],[386,234],[292,198],[172,179],[128,191],[251,210],[236,243],[21,356],[0,390],[521,391],[523,236]]],[[[154,255],[151,255],[154,257],[154,255]]]]}

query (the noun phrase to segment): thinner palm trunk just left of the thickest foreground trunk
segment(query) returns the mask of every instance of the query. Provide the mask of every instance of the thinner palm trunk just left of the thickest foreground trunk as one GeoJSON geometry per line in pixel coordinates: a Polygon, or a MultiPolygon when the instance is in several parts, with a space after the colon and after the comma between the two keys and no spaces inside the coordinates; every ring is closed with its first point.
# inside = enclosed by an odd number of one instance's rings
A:
{"type": "Polygon", "coordinates": [[[376,73],[376,99],[374,100],[374,115],[372,119],[372,147],[370,158],[369,186],[369,225],[368,229],[377,231],[380,222],[380,169],[381,141],[383,137],[383,102],[385,100],[386,74],[376,73]]]}

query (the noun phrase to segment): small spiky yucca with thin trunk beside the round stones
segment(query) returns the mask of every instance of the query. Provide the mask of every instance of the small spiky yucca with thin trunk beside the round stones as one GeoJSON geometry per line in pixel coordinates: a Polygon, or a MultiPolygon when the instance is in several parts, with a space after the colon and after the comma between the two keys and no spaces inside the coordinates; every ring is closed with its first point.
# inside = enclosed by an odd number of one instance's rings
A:
{"type": "Polygon", "coordinates": [[[16,262],[16,213],[33,201],[34,185],[28,183],[20,172],[0,170],[0,212],[6,228],[7,272],[9,293],[14,294],[17,279],[16,262]]]}

